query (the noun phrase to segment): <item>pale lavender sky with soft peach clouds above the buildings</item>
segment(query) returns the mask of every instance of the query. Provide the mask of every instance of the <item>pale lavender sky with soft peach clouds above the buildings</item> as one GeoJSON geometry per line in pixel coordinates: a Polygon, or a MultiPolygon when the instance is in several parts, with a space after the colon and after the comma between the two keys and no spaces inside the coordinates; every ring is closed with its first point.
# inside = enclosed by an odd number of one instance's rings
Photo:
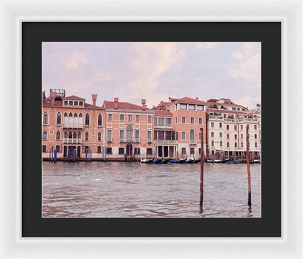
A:
{"type": "Polygon", "coordinates": [[[96,105],[151,108],[169,97],[261,103],[261,42],[43,42],[42,89],[65,89],[96,105]]]}

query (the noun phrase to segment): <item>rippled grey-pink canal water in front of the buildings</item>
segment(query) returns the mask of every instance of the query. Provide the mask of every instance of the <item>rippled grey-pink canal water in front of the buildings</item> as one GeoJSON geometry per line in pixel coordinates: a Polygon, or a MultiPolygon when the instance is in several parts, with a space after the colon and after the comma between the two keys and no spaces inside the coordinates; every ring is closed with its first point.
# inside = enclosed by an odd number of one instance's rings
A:
{"type": "Polygon", "coordinates": [[[261,217],[261,165],[43,162],[43,217],[261,217]]]}

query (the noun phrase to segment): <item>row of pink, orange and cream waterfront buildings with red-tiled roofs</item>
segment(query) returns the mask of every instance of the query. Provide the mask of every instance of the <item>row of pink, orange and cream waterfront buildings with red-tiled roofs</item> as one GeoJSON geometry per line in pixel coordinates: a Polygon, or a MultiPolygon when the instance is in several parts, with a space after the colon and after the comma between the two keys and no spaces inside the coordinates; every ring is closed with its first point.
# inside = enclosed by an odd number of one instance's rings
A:
{"type": "Polygon", "coordinates": [[[65,90],[42,93],[42,157],[56,149],[58,158],[67,154],[85,158],[124,159],[139,157],[197,157],[200,153],[200,128],[204,132],[204,151],[208,156],[244,155],[246,126],[249,151],[261,155],[261,108],[249,111],[230,99],[169,98],[158,106],[104,101],[96,105],[65,90]]]}

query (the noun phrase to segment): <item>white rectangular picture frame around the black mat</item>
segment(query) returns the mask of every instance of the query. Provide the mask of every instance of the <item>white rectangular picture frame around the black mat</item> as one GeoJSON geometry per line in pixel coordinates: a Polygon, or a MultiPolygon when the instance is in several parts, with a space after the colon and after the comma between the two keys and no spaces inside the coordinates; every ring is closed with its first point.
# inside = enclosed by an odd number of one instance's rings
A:
{"type": "Polygon", "coordinates": [[[0,258],[303,258],[302,10],[295,0],[1,1],[0,258]],[[22,238],[22,21],[281,22],[282,237],[22,238]]]}

